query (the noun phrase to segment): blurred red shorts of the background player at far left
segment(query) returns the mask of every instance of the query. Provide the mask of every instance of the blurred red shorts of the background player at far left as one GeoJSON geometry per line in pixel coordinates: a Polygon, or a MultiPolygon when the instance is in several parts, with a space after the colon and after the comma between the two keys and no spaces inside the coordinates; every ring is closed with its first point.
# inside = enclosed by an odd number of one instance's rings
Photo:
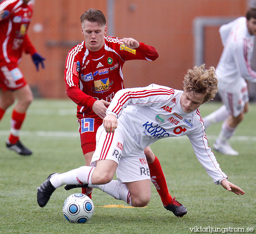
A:
{"type": "Polygon", "coordinates": [[[0,66],[0,88],[4,91],[16,90],[27,84],[17,64],[0,66]]]}

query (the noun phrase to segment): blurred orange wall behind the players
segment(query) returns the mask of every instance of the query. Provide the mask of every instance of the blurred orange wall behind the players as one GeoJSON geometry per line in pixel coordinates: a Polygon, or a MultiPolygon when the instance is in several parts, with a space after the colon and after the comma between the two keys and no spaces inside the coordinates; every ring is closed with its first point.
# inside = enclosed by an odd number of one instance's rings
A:
{"type": "MultiPolygon", "coordinates": [[[[64,98],[65,59],[72,46],[84,40],[80,15],[100,9],[108,26],[108,0],[35,0],[29,36],[45,60],[36,71],[29,55],[20,69],[38,97],[64,98]]],[[[246,0],[113,0],[114,35],[132,37],[154,46],[154,61],[127,61],[123,68],[125,87],[151,83],[182,89],[182,80],[193,64],[193,20],[199,16],[244,16],[246,0]]],[[[109,34],[108,34],[109,35],[109,34]]],[[[206,66],[216,66],[222,52],[218,27],[205,28],[206,66]]]]}

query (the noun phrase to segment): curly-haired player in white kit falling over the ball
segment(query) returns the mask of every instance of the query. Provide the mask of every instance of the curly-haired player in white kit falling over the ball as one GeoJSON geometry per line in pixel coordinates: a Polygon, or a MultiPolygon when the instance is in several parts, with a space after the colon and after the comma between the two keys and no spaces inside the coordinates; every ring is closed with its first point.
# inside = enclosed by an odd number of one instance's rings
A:
{"type": "Polygon", "coordinates": [[[44,207],[54,190],[64,184],[66,189],[86,184],[131,206],[146,206],[151,185],[144,148],[158,139],[182,135],[188,136],[197,159],[215,184],[237,195],[244,194],[227,181],[208,147],[198,109],[215,96],[217,83],[215,69],[206,70],[202,65],[188,70],[184,91],[156,84],[118,91],[98,128],[91,166],[51,174],[38,188],[39,206],[44,207]],[[115,172],[118,179],[112,180],[115,172]]]}

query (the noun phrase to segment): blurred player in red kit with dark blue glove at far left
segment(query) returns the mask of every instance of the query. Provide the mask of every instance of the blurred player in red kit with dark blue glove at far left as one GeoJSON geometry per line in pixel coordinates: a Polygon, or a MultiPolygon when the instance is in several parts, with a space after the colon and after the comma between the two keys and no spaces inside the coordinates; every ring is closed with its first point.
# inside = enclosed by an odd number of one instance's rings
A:
{"type": "Polygon", "coordinates": [[[16,99],[6,147],[20,155],[32,154],[19,141],[21,125],[33,100],[31,89],[18,68],[22,52],[31,54],[37,70],[39,63],[44,68],[44,58],[36,53],[27,35],[31,16],[29,0],[4,0],[0,3],[0,119],[16,99]]]}

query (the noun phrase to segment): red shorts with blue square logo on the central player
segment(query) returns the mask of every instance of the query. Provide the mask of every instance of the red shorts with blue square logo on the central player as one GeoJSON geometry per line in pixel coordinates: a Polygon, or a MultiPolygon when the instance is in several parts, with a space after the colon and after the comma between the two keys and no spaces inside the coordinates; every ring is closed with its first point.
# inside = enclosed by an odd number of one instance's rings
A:
{"type": "Polygon", "coordinates": [[[83,154],[95,151],[96,132],[102,124],[102,119],[83,118],[77,120],[79,123],[79,134],[83,154]]]}

